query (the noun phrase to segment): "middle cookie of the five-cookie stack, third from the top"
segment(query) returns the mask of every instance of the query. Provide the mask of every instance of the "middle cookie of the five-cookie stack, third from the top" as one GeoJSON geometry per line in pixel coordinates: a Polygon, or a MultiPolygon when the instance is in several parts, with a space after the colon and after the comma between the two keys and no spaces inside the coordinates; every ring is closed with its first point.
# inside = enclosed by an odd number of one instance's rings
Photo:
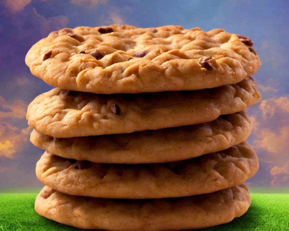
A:
{"type": "Polygon", "coordinates": [[[30,141],[67,159],[95,163],[163,163],[227,149],[246,140],[251,131],[252,122],[242,111],[207,123],[127,134],[54,138],[34,129],[30,141]]]}

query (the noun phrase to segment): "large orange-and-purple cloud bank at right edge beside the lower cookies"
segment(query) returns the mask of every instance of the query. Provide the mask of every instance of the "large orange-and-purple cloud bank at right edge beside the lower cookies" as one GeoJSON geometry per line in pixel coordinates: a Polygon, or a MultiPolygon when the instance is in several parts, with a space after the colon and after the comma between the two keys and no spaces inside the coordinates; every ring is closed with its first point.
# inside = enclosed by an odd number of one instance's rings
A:
{"type": "Polygon", "coordinates": [[[286,97],[263,100],[261,114],[254,121],[254,148],[262,161],[268,163],[272,185],[289,184],[289,101],[286,97]],[[284,165],[284,163],[286,163],[284,165]],[[287,172],[286,172],[287,171],[287,172]],[[287,175],[286,175],[287,174],[287,175]]]}

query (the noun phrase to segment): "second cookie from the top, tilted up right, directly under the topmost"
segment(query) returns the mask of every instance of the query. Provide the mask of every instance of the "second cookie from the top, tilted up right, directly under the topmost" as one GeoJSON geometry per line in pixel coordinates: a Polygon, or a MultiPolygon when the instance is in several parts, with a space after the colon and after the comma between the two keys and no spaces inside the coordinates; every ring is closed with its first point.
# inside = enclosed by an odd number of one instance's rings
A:
{"type": "Polygon", "coordinates": [[[209,122],[260,99],[251,77],[198,91],[104,95],[55,88],[30,103],[26,118],[56,138],[131,133],[209,122]]]}

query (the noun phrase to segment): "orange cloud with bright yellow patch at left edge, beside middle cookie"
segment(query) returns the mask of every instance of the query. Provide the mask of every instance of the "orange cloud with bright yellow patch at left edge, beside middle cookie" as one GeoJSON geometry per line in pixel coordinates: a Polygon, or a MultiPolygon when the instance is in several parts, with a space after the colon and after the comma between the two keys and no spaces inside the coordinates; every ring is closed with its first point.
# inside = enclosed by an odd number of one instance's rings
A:
{"type": "Polygon", "coordinates": [[[30,131],[29,127],[20,129],[8,122],[0,121],[0,157],[13,159],[15,153],[23,150],[30,131]]]}

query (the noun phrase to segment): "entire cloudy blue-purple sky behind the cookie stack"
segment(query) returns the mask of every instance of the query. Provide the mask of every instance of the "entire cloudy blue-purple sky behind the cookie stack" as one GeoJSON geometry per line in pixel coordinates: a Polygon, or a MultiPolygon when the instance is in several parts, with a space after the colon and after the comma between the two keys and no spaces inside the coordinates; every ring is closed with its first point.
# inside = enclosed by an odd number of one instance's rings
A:
{"type": "Polygon", "coordinates": [[[35,165],[43,150],[29,142],[28,104],[51,90],[24,59],[30,47],[65,27],[129,24],[222,28],[249,37],[262,66],[253,75],[262,101],[247,109],[249,143],[260,168],[249,186],[289,187],[289,1],[286,0],[0,0],[0,187],[42,186],[35,165]]]}

